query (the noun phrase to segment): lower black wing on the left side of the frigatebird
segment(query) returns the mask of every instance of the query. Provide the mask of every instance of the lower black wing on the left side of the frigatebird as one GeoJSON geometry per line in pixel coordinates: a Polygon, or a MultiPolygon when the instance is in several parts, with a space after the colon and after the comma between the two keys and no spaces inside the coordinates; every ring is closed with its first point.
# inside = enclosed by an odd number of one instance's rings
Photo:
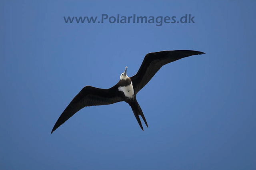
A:
{"type": "Polygon", "coordinates": [[[110,89],[99,89],[91,86],[84,87],[60,115],[52,128],[52,132],[86,106],[110,105],[123,101],[122,97],[118,96],[119,93],[116,93],[117,89],[116,85],[110,89]]]}

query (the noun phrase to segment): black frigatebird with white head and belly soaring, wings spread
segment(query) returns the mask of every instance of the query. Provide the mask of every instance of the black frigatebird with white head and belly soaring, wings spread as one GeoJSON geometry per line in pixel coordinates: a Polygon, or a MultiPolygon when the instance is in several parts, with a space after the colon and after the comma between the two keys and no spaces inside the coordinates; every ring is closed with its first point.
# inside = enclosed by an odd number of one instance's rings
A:
{"type": "Polygon", "coordinates": [[[56,128],[60,127],[60,125],[66,122],[76,112],[86,106],[110,105],[120,101],[125,101],[130,105],[130,107],[132,107],[132,111],[140,125],[140,128],[143,130],[139,115],[142,117],[147,127],[148,123],[142,113],[140,105],[136,100],[136,94],[150,81],[150,79],[152,79],[152,77],[163,65],[184,57],[199,54],[204,53],[192,50],[159,51],[148,53],[144,57],[140,69],[134,76],[128,77],[127,67],[125,67],[125,71],[120,75],[120,80],[118,83],[110,89],[99,89],[92,86],[85,86],[60,115],[52,129],[52,132],[56,130],[56,128]]]}

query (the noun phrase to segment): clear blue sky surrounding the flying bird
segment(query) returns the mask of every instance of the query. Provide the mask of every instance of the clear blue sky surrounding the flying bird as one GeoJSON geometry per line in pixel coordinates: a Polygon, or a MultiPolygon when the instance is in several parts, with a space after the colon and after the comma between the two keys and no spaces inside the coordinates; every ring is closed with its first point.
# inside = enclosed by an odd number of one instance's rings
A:
{"type": "MultiPolygon", "coordinates": [[[[255,1],[0,2],[1,170],[256,169],[255,1]],[[194,16],[195,23],[65,23],[64,16],[194,16]],[[86,85],[110,88],[146,53],[165,65],[127,103],[86,107],[50,134],[86,85]]],[[[114,20],[114,19],[113,19],[114,20]]]]}

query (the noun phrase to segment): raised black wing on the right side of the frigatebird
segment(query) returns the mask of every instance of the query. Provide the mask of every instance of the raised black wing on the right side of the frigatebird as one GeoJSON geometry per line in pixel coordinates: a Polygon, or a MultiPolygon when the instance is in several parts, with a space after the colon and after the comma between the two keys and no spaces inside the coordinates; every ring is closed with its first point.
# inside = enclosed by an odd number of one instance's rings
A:
{"type": "Polygon", "coordinates": [[[192,50],[174,50],[148,53],[145,56],[139,71],[136,73],[136,75],[130,77],[132,80],[134,93],[137,94],[163,65],[184,57],[198,54],[204,53],[192,50]]]}

